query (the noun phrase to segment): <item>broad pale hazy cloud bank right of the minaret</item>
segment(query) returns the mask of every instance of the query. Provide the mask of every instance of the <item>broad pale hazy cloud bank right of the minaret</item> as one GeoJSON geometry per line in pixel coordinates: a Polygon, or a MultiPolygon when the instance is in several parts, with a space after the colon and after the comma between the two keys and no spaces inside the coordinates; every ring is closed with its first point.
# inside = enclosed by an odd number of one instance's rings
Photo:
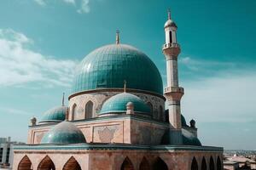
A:
{"type": "Polygon", "coordinates": [[[183,84],[182,112],[199,122],[255,122],[256,74],[240,71],[183,84]]]}

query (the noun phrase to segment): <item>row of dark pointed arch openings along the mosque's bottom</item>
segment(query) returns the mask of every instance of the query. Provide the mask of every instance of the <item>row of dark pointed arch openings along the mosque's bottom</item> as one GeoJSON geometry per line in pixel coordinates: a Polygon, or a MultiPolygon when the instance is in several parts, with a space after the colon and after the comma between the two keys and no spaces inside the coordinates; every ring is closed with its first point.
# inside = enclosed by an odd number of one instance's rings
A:
{"type": "MultiPolygon", "coordinates": [[[[132,163],[131,159],[126,156],[125,160],[119,167],[120,170],[168,170],[172,169],[172,167],[168,167],[165,161],[163,161],[159,156],[154,159],[152,163],[148,161],[148,159],[143,156],[142,161],[139,163],[138,169],[135,168],[136,166],[132,163]]],[[[216,165],[214,164],[212,156],[207,161],[206,157],[202,157],[201,161],[197,161],[195,157],[193,157],[191,161],[191,170],[222,170],[222,161],[220,160],[219,156],[216,159],[216,165]],[[201,163],[200,163],[201,162],[201,163]],[[209,164],[207,165],[207,162],[209,164]],[[217,167],[217,169],[215,169],[217,167]]],[[[32,161],[29,159],[28,156],[24,156],[18,166],[18,170],[32,170],[32,161]]],[[[35,168],[38,170],[55,170],[55,163],[49,158],[49,156],[45,156],[44,159],[39,163],[38,167],[35,168]]],[[[82,170],[79,165],[79,162],[71,156],[69,160],[63,165],[62,170],[82,170]]]]}

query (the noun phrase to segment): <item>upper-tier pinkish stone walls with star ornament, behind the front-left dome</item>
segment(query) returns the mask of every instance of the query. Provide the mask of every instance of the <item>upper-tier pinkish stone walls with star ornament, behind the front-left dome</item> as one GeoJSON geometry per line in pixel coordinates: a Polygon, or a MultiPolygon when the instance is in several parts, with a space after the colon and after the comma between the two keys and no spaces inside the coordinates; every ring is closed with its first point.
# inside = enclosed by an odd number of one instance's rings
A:
{"type": "MultiPolygon", "coordinates": [[[[74,123],[84,134],[87,143],[160,144],[169,127],[166,122],[134,115],[101,117],[74,123]]],[[[44,133],[54,126],[55,123],[30,127],[27,143],[40,144],[44,133]]]]}

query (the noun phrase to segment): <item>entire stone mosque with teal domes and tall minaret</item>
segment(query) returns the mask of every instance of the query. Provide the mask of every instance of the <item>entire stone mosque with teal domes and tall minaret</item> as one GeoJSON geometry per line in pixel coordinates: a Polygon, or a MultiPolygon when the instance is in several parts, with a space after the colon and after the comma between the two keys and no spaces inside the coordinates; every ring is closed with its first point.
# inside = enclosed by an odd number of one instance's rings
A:
{"type": "Polygon", "coordinates": [[[170,12],[164,30],[166,88],[152,60],[120,43],[117,32],[116,43],[77,66],[68,105],[62,99],[38,122],[31,119],[13,169],[222,170],[223,148],[202,145],[195,121],[187,124],[181,114],[181,48],[170,12]]]}

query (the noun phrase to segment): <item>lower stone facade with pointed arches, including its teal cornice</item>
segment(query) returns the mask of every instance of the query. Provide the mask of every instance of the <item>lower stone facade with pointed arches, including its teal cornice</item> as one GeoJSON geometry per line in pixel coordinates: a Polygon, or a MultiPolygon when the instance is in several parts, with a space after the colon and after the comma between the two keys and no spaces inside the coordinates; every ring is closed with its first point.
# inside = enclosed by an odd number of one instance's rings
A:
{"type": "MultiPolygon", "coordinates": [[[[54,163],[55,169],[61,170],[65,169],[65,165],[71,158],[74,158],[73,160],[83,170],[129,169],[127,167],[131,167],[134,170],[154,170],[161,167],[162,169],[185,170],[193,167],[192,160],[194,159],[194,164],[196,163],[199,170],[218,170],[219,166],[222,166],[222,161],[218,160],[222,160],[223,157],[222,149],[214,147],[194,149],[183,146],[150,148],[149,146],[139,147],[137,145],[123,147],[111,144],[86,144],[67,146],[61,150],[57,149],[56,146],[35,146],[26,150],[26,147],[20,146],[15,149],[14,169],[20,169],[19,167],[22,167],[22,164],[27,162],[29,162],[32,169],[43,169],[40,168],[40,163],[44,162],[44,159],[50,159],[54,163]],[[27,160],[22,161],[26,156],[30,162],[27,160]],[[206,168],[202,165],[203,160],[205,160],[206,168]],[[167,168],[164,168],[165,166],[167,168]]],[[[49,161],[45,162],[45,167],[47,167],[47,163],[49,164],[49,161]]]]}

